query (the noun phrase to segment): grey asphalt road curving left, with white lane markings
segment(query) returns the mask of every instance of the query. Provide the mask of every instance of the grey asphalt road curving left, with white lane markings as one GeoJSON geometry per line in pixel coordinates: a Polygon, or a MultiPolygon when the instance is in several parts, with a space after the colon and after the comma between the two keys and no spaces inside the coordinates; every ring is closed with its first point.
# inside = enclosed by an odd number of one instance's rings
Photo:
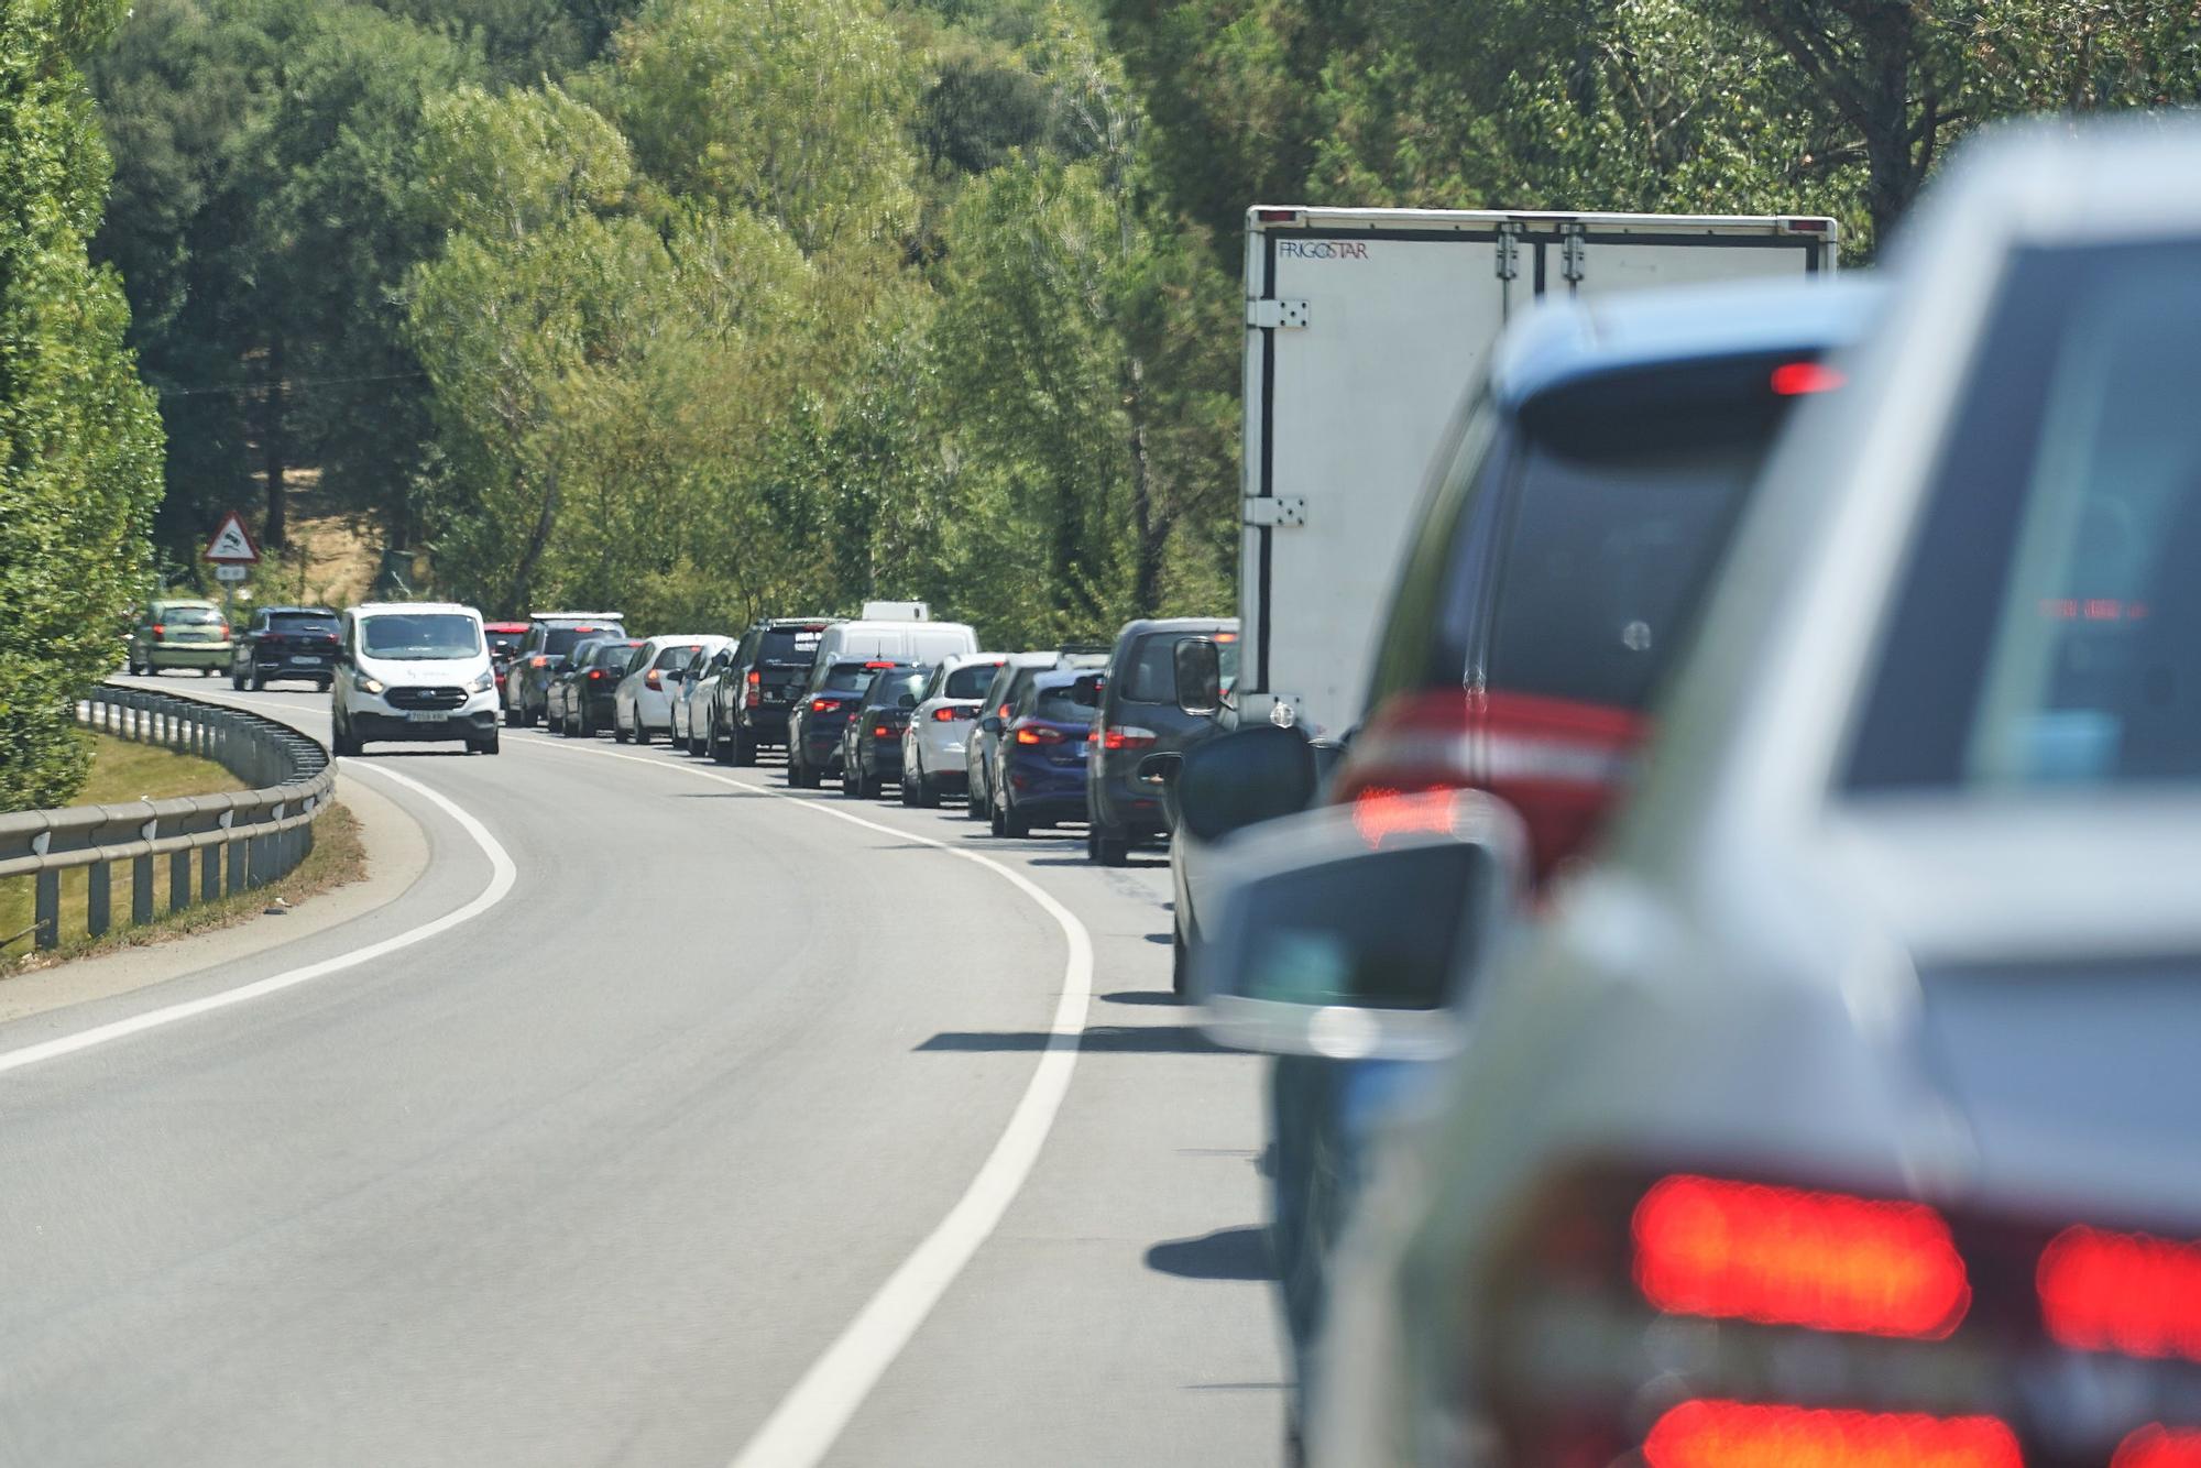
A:
{"type": "Polygon", "coordinates": [[[1158,856],[541,731],[341,777],[401,898],[0,1026],[0,1464],[1277,1461],[1158,856]]]}

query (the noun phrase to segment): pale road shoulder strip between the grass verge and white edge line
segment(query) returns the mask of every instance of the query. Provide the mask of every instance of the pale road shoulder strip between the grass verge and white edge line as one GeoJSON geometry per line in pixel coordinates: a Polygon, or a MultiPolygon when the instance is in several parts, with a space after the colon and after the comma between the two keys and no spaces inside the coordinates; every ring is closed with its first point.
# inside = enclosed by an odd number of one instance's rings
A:
{"type": "Polygon", "coordinates": [[[368,852],[368,874],[361,880],[308,898],[280,918],[262,913],[207,933],[128,946],[0,979],[0,1023],[236,964],[394,902],[427,872],[427,832],[368,781],[339,775],[337,799],[359,821],[359,841],[368,852]]]}

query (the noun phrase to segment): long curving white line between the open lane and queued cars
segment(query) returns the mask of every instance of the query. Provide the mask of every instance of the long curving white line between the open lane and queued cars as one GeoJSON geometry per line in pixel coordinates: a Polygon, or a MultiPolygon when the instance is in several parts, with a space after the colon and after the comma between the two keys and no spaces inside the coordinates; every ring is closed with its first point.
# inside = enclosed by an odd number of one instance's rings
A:
{"type": "MultiPolygon", "coordinates": [[[[530,740],[524,746],[533,744],[535,742],[530,740]]],[[[566,746],[548,744],[544,748],[566,746]]],[[[720,775],[715,770],[700,770],[691,764],[651,759],[649,755],[621,755],[616,751],[588,746],[572,746],[568,753],[601,755],[605,759],[632,759],[634,764],[647,764],[660,770],[680,770],[700,779],[735,786],[737,790],[788,799],[803,810],[817,810],[839,821],[847,821],[850,825],[894,836],[896,841],[918,841],[942,850],[949,856],[975,861],[988,872],[1006,878],[1023,896],[1032,898],[1043,913],[1054,918],[1054,924],[1063,929],[1063,938],[1070,942],[1070,960],[1063,966],[1063,997],[1054,1004],[1054,1026],[1048,1030],[1048,1048],[1039,1054],[1032,1081],[1023,1087],[1017,1109],[1008,1114],[1008,1125],[1001,1129],[993,1151],[986,1153],[986,1162],[979,1164],[971,1186],[966,1186],[964,1195],[955,1199],[955,1206],[949,1208],[946,1217],[942,1217],[933,1230],[924,1235],[924,1241],[918,1244],[918,1248],[902,1259],[894,1274],[887,1277],[887,1283],[883,1283],[872,1299],[863,1303],[863,1310],[858,1310],[856,1318],[852,1318],[834,1343],[825,1347],[825,1354],[810,1362],[810,1369],[803,1371],[801,1380],[797,1380],[788,1395],[779,1400],[773,1415],[764,1420],[764,1426],[757,1428],[755,1437],[748,1439],[748,1446],[733,1459],[733,1468],[812,1468],[812,1464],[825,1459],[834,1439],[841,1437],[841,1431],[863,1406],[865,1398],[872,1395],[872,1387],[878,1384],[878,1378],[887,1373],[894,1358],[900,1356],[902,1347],[907,1347],[918,1334],[918,1327],[924,1325],[933,1305],[940,1303],[940,1296],[949,1292],[955,1277],[962,1274],[964,1266],[971,1263],[979,1246],[986,1244],[1001,1217],[1008,1213],[1008,1206],[1017,1199],[1017,1193],[1023,1191],[1026,1180],[1032,1175],[1032,1166],[1039,1162],[1039,1151],[1048,1142],[1048,1131],[1054,1129],[1054,1114],[1061,1111],[1063,1096],[1070,1092],[1070,1074],[1078,1063],[1078,1037],[1085,1030],[1085,1010],[1092,1004],[1092,933],[1087,933],[1085,924],[1078,922],[1067,907],[1048,896],[1032,878],[1004,867],[990,856],[966,852],[964,847],[946,841],[880,825],[878,821],[865,821],[858,814],[799,799],[788,790],[755,786],[746,779],[733,779],[731,775],[720,775]]]]}

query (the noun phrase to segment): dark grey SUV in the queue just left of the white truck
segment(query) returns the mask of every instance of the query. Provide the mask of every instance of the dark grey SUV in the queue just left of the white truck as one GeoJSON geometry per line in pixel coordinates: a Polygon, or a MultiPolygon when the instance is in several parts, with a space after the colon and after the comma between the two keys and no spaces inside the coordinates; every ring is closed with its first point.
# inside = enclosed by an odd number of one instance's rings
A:
{"type": "Polygon", "coordinates": [[[1092,825],[1085,854],[1120,867],[1134,841],[1169,830],[1158,786],[1140,779],[1138,762],[1167,755],[1204,737],[1213,717],[1178,706],[1178,643],[1213,640],[1224,654],[1224,676],[1237,671],[1237,621],[1178,616],[1125,623],[1100,687],[1094,753],[1085,764],[1085,803],[1092,825]]]}

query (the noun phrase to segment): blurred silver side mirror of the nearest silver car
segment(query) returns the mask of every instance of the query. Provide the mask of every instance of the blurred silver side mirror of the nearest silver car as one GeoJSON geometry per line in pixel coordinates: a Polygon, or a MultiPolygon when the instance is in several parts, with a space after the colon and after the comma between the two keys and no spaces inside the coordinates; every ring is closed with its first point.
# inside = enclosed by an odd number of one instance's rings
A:
{"type": "Polygon", "coordinates": [[[1525,850],[1521,819],[1481,790],[1378,797],[1248,834],[1193,955],[1202,1030],[1268,1054],[1455,1052],[1525,850]]]}

